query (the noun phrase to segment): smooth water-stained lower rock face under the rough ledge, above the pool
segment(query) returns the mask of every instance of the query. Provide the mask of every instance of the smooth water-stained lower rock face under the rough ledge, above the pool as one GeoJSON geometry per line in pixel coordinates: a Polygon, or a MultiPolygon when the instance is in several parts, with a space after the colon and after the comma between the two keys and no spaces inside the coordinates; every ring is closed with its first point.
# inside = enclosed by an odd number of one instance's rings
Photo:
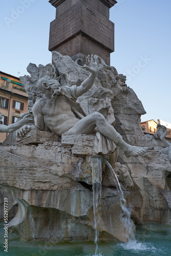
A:
{"type": "MultiPolygon", "coordinates": [[[[43,191],[23,191],[10,187],[3,188],[13,197],[19,198],[18,211],[15,218],[9,223],[10,231],[15,231],[20,237],[26,240],[38,241],[92,241],[94,240],[94,215],[92,192],[83,189],[74,192],[72,190],[63,190],[65,194],[58,194],[59,191],[46,191],[46,199],[42,197],[43,191]],[[48,192],[48,194],[47,194],[48,192]],[[86,193],[85,193],[86,192],[86,193]],[[31,201],[32,198],[35,200],[31,201]],[[29,205],[26,203],[29,200],[29,205]],[[42,206],[40,202],[46,202],[42,206]],[[63,203],[65,202],[65,203],[63,203]],[[87,212],[81,212],[82,209],[87,212]],[[79,206],[79,207],[78,207],[79,206]],[[42,208],[43,207],[43,208],[42,208]],[[59,209],[60,208],[60,209],[59,209]],[[68,212],[71,212],[69,214],[68,212]],[[46,221],[48,218],[48,222],[46,221]]],[[[116,191],[102,191],[103,197],[110,201],[102,200],[103,209],[102,218],[98,230],[102,231],[102,240],[126,241],[126,232],[120,216],[119,198],[116,191]],[[111,208],[112,207],[112,208],[111,208]],[[108,222],[105,216],[111,216],[108,222]],[[117,220],[117,222],[115,222],[117,220]],[[107,222],[106,222],[107,221],[107,222]],[[118,229],[118,221],[119,227],[118,229]],[[106,231],[105,231],[106,230],[106,231]],[[110,233],[108,232],[110,230],[110,233]],[[116,233],[117,230],[117,233],[116,233]],[[122,232],[125,237],[123,238],[122,232]]]]}

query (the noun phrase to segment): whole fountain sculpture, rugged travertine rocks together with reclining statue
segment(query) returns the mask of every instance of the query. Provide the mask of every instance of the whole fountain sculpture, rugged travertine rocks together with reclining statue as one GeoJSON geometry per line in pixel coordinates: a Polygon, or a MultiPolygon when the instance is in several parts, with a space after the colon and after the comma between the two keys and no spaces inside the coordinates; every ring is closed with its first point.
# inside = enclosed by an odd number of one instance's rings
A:
{"type": "Polygon", "coordinates": [[[15,200],[11,207],[18,205],[9,230],[25,240],[94,241],[94,158],[102,162],[101,241],[126,242],[129,236],[105,159],[115,166],[134,219],[169,224],[171,165],[158,154],[163,147],[156,151],[144,136],[145,110],[126,77],[96,55],[81,67],[58,52],[52,64],[30,63],[27,71],[20,81],[34,125],[24,125],[0,150],[2,193],[15,200]]]}

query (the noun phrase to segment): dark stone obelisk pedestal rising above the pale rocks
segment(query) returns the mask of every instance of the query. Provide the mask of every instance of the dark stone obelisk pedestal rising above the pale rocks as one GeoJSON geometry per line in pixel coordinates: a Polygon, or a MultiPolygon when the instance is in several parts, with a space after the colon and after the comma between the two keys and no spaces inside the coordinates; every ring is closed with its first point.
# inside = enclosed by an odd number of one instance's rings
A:
{"type": "Polygon", "coordinates": [[[114,52],[114,23],[109,19],[115,0],[50,0],[56,18],[50,25],[49,50],[73,60],[88,54],[100,56],[110,65],[114,52]]]}

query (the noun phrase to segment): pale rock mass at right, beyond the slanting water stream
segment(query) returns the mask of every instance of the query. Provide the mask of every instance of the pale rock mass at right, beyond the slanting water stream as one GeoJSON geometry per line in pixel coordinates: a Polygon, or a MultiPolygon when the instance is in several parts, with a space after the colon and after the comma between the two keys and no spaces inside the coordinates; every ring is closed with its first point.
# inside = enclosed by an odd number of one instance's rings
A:
{"type": "Polygon", "coordinates": [[[139,217],[143,221],[170,224],[171,191],[166,184],[166,177],[171,174],[168,157],[149,150],[137,159],[125,159],[120,152],[118,161],[127,161],[131,170],[134,189],[129,190],[127,201],[133,205],[139,217]]]}

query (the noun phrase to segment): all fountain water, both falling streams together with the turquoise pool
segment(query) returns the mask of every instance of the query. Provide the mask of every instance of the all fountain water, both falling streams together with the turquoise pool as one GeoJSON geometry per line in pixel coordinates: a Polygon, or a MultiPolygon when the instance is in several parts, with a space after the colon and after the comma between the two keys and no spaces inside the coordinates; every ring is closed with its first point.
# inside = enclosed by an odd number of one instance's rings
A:
{"type": "MultiPolygon", "coordinates": [[[[104,160],[105,161],[105,160],[104,160]]],[[[122,208],[122,221],[127,228],[128,243],[100,242],[97,227],[100,221],[101,210],[101,158],[92,158],[93,176],[93,207],[95,247],[92,242],[50,243],[23,241],[16,234],[8,234],[8,252],[4,251],[4,223],[0,223],[0,255],[5,256],[171,256],[171,225],[159,223],[145,223],[136,228],[136,236],[132,232],[130,220],[131,209],[126,206],[123,192],[108,161],[112,177],[117,184],[122,208]]]]}

